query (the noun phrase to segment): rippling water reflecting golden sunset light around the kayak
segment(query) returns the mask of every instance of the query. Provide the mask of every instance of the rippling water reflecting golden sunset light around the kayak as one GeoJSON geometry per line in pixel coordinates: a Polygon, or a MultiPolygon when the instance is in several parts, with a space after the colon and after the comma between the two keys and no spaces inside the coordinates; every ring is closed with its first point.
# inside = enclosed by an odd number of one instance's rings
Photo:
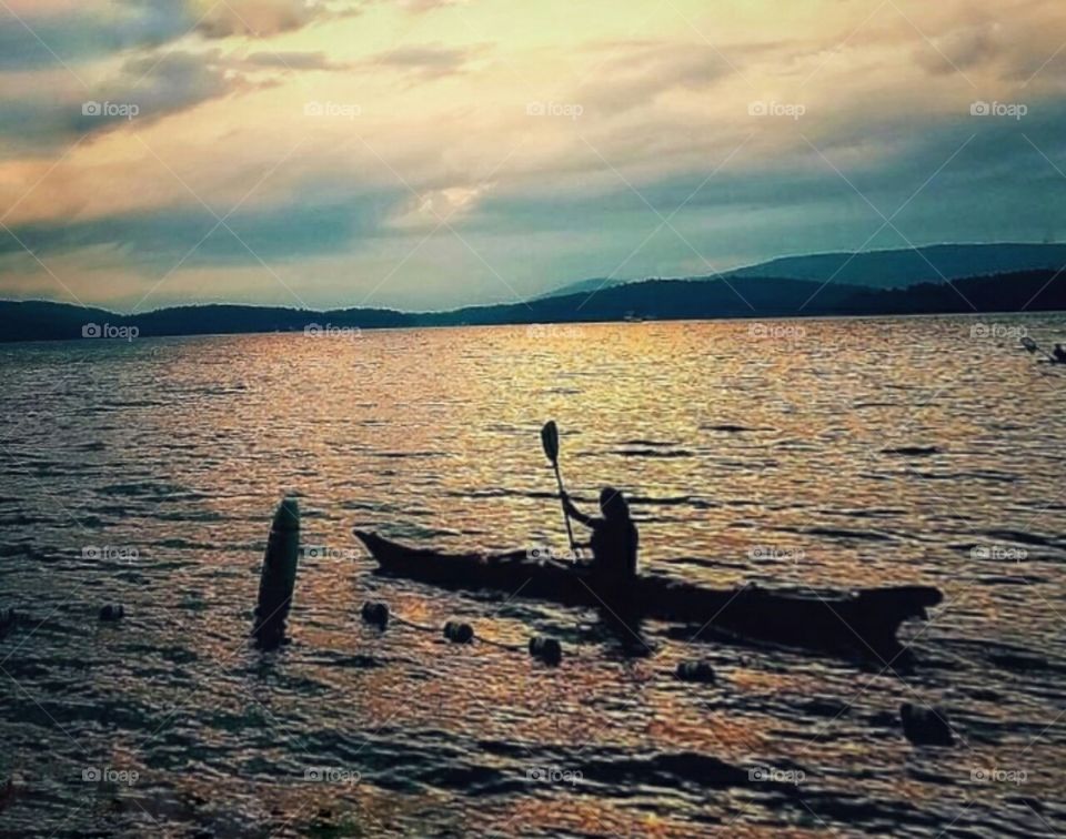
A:
{"type": "Polygon", "coordinates": [[[1015,336],[972,337],[978,323],[0,348],[0,605],[23,615],[0,641],[0,832],[1064,830],[1066,373],[1015,336]],[[562,548],[549,417],[579,504],[607,483],[631,494],[647,567],[941,587],[933,620],[904,630],[917,666],[693,649],[654,624],[655,655],[628,658],[593,614],[371,575],[353,526],[562,548]],[[302,559],[292,644],[263,654],[245,636],[283,493],[322,549],[302,559]],[[549,669],[380,636],[359,619],[369,598],[502,641],[546,633],[569,655],[549,669]],[[107,603],[122,623],[97,619],[107,603]],[[693,656],[717,685],[673,678],[693,656]],[[959,742],[911,746],[902,701],[945,707],[959,742]],[[108,767],[127,775],[82,779],[108,767]],[[760,768],[778,782],[750,780],[760,768]]]}

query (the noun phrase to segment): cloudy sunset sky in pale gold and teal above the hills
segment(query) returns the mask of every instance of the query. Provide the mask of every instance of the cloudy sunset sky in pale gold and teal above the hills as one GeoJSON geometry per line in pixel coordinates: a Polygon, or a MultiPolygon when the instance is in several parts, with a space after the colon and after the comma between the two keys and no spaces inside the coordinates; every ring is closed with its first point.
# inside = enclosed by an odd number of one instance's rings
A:
{"type": "Polygon", "coordinates": [[[1062,0],[0,0],[0,297],[449,309],[1066,236],[1062,0]]]}

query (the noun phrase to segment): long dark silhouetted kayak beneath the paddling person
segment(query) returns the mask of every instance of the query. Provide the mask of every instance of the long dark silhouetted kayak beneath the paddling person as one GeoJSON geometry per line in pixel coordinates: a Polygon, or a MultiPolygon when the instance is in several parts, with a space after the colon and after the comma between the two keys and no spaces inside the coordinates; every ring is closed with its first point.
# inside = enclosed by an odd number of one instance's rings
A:
{"type": "MultiPolygon", "coordinates": [[[[444,554],[365,530],[354,533],[384,576],[454,590],[502,592],[564,606],[611,610],[617,600],[580,566],[531,558],[525,550],[444,554]]],[[[642,574],[631,588],[625,600],[636,617],[687,624],[694,635],[698,631],[692,640],[740,636],[808,649],[873,654],[886,661],[902,651],[896,639],[899,626],[912,618],[926,619],[926,609],[943,599],[941,592],[929,586],[828,593],[755,585],[715,589],[661,574],[642,574]]]]}

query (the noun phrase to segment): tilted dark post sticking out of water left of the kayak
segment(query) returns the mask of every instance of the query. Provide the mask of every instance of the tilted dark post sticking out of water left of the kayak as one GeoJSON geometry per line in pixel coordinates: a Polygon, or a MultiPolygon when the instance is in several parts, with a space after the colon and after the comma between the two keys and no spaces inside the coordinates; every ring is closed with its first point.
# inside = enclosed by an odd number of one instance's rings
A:
{"type": "Polygon", "coordinates": [[[296,562],[300,558],[300,505],[285,498],[278,505],[270,526],[263,570],[259,578],[259,603],[255,606],[255,640],[261,647],[278,647],[285,637],[285,620],[296,585],[296,562]]]}

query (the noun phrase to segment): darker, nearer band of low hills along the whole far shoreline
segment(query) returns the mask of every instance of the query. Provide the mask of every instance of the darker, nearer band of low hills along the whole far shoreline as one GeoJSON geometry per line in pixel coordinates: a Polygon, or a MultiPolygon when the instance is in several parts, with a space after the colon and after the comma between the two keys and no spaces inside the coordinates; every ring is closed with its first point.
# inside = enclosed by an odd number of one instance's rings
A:
{"type": "MultiPolygon", "coordinates": [[[[804,280],[648,280],[526,303],[409,313],[385,309],[310,311],[270,306],[178,306],[137,315],[63,303],[0,302],[0,341],[81,338],[87,328],[133,327],[141,337],[310,328],[583,323],[642,320],[1066,311],[1066,273],[1025,271],[907,289],[863,289],[804,280]]],[[[89,330],[91,332],[91,328],[89,330]]]]}

